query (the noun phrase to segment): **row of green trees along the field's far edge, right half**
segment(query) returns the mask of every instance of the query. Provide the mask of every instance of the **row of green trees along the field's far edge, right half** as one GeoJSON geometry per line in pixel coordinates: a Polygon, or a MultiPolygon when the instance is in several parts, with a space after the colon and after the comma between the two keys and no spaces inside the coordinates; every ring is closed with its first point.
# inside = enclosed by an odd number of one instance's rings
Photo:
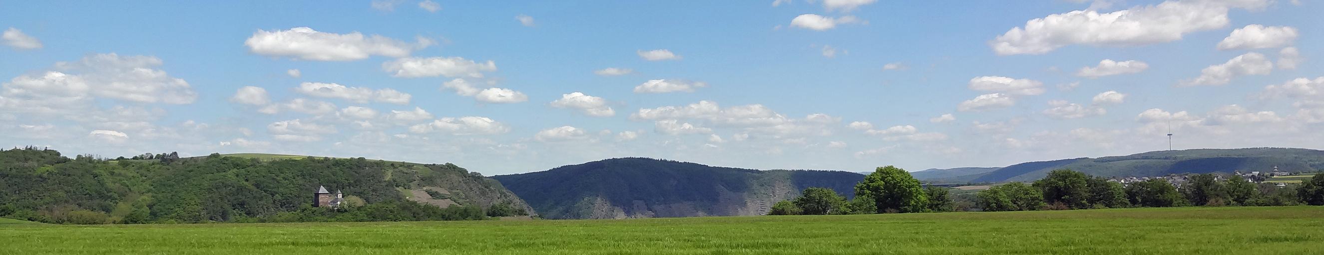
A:
{"type": "MultiPolygon", "coordinates": [[[[1241,176],[1219,181],[1215,174],[1193,174],[1181,185],[1155,178],[1123,185],[1082,172],[1058,169],[1038,181],[1008,182],[976,193],[977,210],[1072,210],[1172,206],[1288,206],[1324,205],[1324,173],[1295,188],[1255,184],[1241,176]]],[[[953,211],[948,188],[923,186],[908,172],[882,166],[855,185],[847,201],[831,189],[809,188],[800,197],[773,203],[769,215],[874,214],[953,211]]]]}

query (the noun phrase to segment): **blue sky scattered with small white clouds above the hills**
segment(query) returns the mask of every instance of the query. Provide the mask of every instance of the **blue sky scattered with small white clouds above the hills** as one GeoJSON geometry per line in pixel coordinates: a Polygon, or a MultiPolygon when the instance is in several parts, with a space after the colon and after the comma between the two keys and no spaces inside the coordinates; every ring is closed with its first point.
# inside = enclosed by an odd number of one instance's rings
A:
{"type": "Polygon", "coordinates": [[[487,174],[628,156],[1002,166],[1166,149],[1168,127],[1176,148],[1320,148],[1319,11],[1287,0],[0,1],[0,144],[363,156],[487,174]]]}

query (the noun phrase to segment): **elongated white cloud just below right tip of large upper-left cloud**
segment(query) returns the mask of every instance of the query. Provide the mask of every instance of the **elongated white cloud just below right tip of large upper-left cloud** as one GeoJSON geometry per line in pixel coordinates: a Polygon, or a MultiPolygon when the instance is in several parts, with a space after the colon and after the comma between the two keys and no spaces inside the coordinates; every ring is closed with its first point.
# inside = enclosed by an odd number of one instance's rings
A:
{"type": "Polygon", "coordinates": [[[483,78],[485,71],[496,71],[493,61],[474,62],[461,57],[408,57],[381,63],[381,70],[392,77],[420,78],[420,77],[463,77],[483,78]]]}

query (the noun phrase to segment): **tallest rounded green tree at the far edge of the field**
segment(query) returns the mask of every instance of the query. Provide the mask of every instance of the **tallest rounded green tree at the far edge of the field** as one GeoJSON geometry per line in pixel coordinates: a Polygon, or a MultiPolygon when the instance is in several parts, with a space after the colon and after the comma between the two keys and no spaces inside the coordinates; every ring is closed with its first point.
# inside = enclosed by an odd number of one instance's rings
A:
{"type": "Polygon", "coordinates": [[[855,196],[874,198],[878,213],[919,213],[928,205],[928,197],[908,172],[896,166],[882,166],[855,185],[855,196]]]}

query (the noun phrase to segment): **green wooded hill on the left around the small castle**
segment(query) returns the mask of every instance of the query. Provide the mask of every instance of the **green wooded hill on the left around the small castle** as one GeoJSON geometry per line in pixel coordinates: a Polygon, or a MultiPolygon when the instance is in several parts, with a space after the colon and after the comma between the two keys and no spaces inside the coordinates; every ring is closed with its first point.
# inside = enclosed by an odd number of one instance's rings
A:
{"type": "Polygon", "coordinates": [[[453,164],[164,153],[101,160],[37,148],[0,151],[0,215],[42,222],[474,219],[493,206],[531,213],[495,180],[453,164]],[[343,190],[361,210],[312,209],[319,185],[343,190]]]}

